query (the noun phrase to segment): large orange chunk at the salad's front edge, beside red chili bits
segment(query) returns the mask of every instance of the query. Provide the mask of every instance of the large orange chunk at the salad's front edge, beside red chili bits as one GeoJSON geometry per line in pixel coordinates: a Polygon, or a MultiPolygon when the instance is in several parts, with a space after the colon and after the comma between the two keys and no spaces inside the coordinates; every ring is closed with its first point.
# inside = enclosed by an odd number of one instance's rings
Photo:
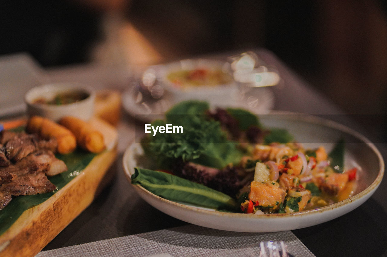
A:
{"type": "Polygon", "coordinates": [[[251,182],[250,194],[248,195],[250,200],[255,203],[258,201],[260,206],[272,206],[274,209],[279,208],[279,205],[283,203],[285,196],[285,189],[280,188],[278,184],[273,185],[257,181],[251,182]]]}

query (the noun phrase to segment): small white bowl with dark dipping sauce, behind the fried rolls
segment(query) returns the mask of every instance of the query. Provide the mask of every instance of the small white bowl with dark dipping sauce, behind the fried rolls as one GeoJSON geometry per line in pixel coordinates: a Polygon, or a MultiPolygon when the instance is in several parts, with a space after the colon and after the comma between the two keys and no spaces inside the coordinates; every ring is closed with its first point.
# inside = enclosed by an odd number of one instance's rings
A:
{"type": "Polygon", "coordinates": [[[95,91],[79,83],[52,83],[36,86],[25,97],[27,115],[58,121],[63,116],[89,120],[94,115],[95,91]]]}

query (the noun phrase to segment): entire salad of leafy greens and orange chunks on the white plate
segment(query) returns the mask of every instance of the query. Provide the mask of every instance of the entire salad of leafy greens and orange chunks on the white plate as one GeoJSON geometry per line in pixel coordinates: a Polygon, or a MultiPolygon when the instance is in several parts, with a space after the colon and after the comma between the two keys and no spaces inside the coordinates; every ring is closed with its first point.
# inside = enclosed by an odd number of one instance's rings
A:
{"type": "Polygon", "coordinates": [[[259,215],[319,208],[356,191],[357,168],[344,169],[343,140],[330,152],[305,149],[252,113],[211,111],[201,101],[182,102],[153,125],[166,123],[182,125],[183,133],[144,137],[152,161],[135,168],[132,183],[168,200],[259,215]]]}

